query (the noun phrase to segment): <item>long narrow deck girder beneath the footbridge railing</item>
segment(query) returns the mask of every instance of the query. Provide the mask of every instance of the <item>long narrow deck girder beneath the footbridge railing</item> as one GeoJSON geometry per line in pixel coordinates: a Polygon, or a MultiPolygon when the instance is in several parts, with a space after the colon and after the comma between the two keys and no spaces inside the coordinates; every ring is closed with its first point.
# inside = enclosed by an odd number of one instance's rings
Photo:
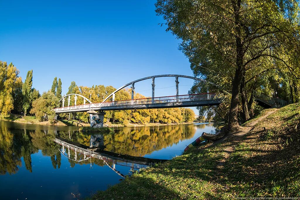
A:
{"type": "Polygon", "coordinates": [[[221,99],[212,99],[205,101],[185,101],[185,102],[170,102],[170,103],[155,103],[155,104],[133,104],[133,105],[110,105],[110,106],[91,106],[80,107],[62,107],[56,108],[55,113],[77,113],[87,112],[89,110],[106,111],[106,110],[134,110],[134,109],[154,109],[154,108],[174,108],[174,107],[196,107],[196,106],[214,106],[219,105],[222,102],[221,99]]]}

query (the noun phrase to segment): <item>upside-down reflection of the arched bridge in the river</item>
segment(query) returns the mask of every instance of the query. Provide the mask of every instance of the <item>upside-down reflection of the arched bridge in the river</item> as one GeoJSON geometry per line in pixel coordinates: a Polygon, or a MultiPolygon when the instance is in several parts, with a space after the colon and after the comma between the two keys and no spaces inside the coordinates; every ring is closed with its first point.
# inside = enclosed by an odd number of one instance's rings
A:
{"type": "Polygon", "coordinates": [[[85,146],[79,143],[68,141],[60,137],[56,137],[54,139],[54,142],[61,145],[59,151],[68,159],[78,163],[84,160],[90,160],[91,158],[103,160],[105,165],[107,165],[110,169],[112,169],[114,172],[116,172],[123,178],[125,178],[125,175],[116,170],[116,165],[129,166],[131,168],[130,170],[133,171],[134,169],[141,169],[150,166],[154,163],[166,161],[161,159],[136,157],[130,155],[116,154],[110,151],[104,151],[102,150],[101,145],[95,145],[95,140],[98,140],[98,137],[101,138],[101,135],[91,135],[90,146],[85,146]],[[70,151],[74,152],[74,156],[71,156],[70,151]],[[83,159],[78,158],[79,154],[83,155],[83,159]]]}

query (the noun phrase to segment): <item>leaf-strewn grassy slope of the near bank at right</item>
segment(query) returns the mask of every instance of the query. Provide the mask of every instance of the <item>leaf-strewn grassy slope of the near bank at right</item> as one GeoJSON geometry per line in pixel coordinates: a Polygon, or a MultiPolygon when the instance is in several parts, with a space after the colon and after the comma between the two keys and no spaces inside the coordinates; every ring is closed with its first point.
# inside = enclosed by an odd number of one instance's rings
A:
{"type": "Polygon", "coordinates": [[[244,130],[191,149],[91,199],[300,196],[300,104],[263,110],[244,130]]]}

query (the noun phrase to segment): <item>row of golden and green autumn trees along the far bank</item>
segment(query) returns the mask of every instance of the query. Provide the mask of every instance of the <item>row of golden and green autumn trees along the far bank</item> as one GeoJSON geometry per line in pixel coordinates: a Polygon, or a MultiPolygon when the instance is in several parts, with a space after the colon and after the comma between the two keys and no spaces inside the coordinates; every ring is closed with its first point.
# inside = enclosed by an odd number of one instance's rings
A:
{"type": "MultiPolygon", "coordinates": [[[[54,119],[55,112],[53,108],[62,106],[62,83],[61,79],[54,78],[52,87],[42,95],[38,90],[32,87],[33,71],[27,72],[26,79],[22,82],[19,77],[19,70],[12,63],[0,61],[0,113],[1,118],[7,114],[26,114],[30,113],[36,116],[39,121],[49,121],[56,123],[54,119]]],[[[68,94],[80,94],[90,97],[92,102],[102,102],[116,88],[113,86],[95,85],[92,87],[77,86],[72,81],[68,88],[68,94]]],[[[135,99],[145,98],[145,96],[134,93],[135,99]]],[[[116,101],[131,99],[131,89],[123,89],[116,94],[116,101]]],[[[78,98],[76,104],[83,104],[83,99],[78,98]]],[[[70,105],[75,104],[75,99],[70,99],[70,105]]],[[[87,113],[60,114],[61,118],[89,122],[87,113]]],[[[189,108],[161,108],[161,109],[143,109],[143,110],[117,110],[106,111],[104,116],[106,122],[122,123],[191,123],[195,119],[195,113],[189,108]]]]}

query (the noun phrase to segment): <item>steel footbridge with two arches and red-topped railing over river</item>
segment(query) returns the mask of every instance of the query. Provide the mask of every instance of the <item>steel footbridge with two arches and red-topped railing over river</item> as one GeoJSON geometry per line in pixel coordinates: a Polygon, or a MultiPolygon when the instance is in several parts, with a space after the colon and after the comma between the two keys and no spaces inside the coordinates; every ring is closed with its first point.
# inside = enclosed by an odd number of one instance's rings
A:
{"type": "MultiPolygon", "coordinates": [[[[106,110],[133,110],[133,109],[152,109],[152,108],[171,108],[171,107],[193,107],[193,106],[211,106],[219,105],[222,102],[222,98],[219,97],[216,93],[202,93],[202,94],[187,94],[187,95],[178,95],[178,78],[189,78],[195,81],[202,81],[208,84],[217,86],[214,83],[205,81],[200,78],[186,76],[186,75],[155,75],[148,76],[145,78],[140,78],[135,81],[131,81],[128,84],[123,85],[122,87],[115,90],[109,96],[107,96],[104,101],[99,103],[92,103],[88,98],[79,95],[79,94],[68,94],[62,97],[59,101],[59,104],[62,103],[62,107],[55,108],[55,113],[72,113],[72,112],[89,112],[94,110],[96,112],[106,111],[106,110]],[[163,96],[155,97],[155,78],[160,77],[175,77],[176,82],[176,95],[175,96],[163,96]],[[152,97],[143,98],[143,99],[134,99],[134,84],[143,80],[152,79],[152,97]],[[115,101],[116,93],[125,87],[131,86],[131,99],[115,101]],[[70,105],[70,98],[74,96],[74,105],[70,105]],[[77,98],[83,98],[83,104],[77,105],[77,98]],[[68,100],[68,105],[65,106],[65,99],[68,100]],[[112,101],[107,101],[111,99],[112,101]],[[86,103],[88,102],[88,103],[86,103]]],[[[218,86],[217,86],[218,87],[218,86]]],[[[73,97],[72,97],[73,98],[73,97]]]]}

